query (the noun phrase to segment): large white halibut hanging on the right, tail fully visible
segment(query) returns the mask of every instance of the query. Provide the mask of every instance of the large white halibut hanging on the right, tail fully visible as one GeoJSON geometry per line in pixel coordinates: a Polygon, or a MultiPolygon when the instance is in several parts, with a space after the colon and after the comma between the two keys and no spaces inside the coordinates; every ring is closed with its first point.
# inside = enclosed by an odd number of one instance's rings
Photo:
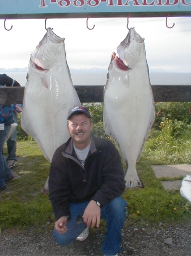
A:
{"type": "Polygon", "coordinates": [[[154,120],[144,39],[130,28],[113,52],[104,87],[104,130],[128,162],[126,188],[143,187],[135,165],[154,120]]]}

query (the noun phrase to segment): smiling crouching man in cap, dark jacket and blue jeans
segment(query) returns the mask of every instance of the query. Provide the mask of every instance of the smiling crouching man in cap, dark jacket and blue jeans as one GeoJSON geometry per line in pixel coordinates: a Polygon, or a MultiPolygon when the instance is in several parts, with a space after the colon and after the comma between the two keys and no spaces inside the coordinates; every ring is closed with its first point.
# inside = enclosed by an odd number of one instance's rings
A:
{"type": "Polygon", "coordinates": [[[54,153],[49,173],[49,198],[56,216],[53,236],[61,245],[83,241],[88,228],[98,228],[104,218],[102,252],[118,255],[127,205],[121,197],[125,180],[120,155],[111,141],[91,135],[87,108],[71,108],[67,119],[70,138],[54,153]]]}

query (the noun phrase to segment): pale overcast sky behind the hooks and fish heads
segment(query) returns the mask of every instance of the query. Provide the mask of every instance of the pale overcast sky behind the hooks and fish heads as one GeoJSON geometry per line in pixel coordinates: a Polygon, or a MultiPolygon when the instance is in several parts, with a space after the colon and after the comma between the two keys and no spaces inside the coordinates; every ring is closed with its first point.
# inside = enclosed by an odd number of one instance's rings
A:
{"type": "MultiPolygon", "coordinates": [[[[0,68],[26,68],[29,57],[46,33],[45,19],[6,20],[6,31],[0,20],[0,68]],[[3,39],[3,40],[2,40],[3,39]]],[[[48,19],[46,27],[65,38],[67,63],[70,69],[108,69],[111,54],[128,34],[126,18],[48,19]]],[[[129,18],[145,38],[147,63],[150,71],[191,72],[191,17],[129,18]]]]}

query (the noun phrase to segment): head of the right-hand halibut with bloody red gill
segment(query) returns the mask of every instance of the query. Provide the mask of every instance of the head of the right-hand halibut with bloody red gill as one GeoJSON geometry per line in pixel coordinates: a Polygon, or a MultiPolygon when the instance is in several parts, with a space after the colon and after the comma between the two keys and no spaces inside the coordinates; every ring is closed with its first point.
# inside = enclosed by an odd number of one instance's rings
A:
{"type": "Polygon", "coordinates": [[[128,35],[112,55],[112,59],[116,62],[118,69],[128,71],[143,59],[145,56],[144,40],[134,28],[129,29],[128,35]]]}

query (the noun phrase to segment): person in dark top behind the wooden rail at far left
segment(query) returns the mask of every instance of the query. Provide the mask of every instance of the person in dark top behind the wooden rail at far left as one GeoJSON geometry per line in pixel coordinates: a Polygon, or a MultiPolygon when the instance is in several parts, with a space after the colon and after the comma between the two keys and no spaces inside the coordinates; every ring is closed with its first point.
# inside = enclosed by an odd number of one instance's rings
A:
{"type": "MultiPolygon", "coordinates": [[[[6,74],[0,74],[0,85],[4,86],[20,86],[19,82],[12,79],[11,77],[7,76],[6,74]]],[[[22,112],[22,109],[19,105],[13,105],[14,112],[13,112],[13,118],[15,123],[17,122],[17,113],[22,112]]],[[[12,168],[15,166],[15,163],[17,161],[16,158],[16,137],[17,137],[17,129],[14,130],[14,132],[11,134],[10,138],[7,140],[7,151],[8,151],[8,157],[6,159],[7,165],[9,168],[12,168]]]]}

